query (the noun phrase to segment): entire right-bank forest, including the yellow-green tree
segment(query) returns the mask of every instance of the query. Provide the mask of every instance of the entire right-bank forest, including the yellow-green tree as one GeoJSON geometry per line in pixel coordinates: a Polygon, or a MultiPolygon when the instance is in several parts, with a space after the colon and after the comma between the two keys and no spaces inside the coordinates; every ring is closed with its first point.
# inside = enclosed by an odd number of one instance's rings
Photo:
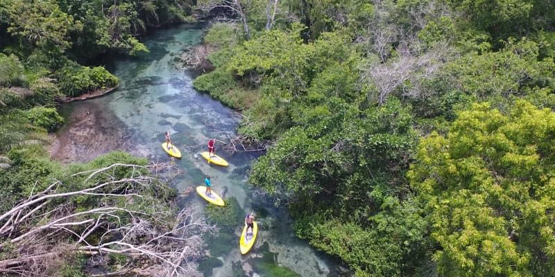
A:
{"type": "Polygon", "coordinates": [[[550,1],[199,1],[195,80],[250,172],[356,276],[555,276],[550,1]]]}

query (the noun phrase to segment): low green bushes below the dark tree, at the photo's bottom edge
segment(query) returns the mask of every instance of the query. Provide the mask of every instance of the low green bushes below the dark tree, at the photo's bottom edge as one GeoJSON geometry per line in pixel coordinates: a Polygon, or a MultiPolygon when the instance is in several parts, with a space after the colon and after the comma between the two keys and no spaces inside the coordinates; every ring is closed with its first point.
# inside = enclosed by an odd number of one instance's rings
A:
{"type": "Polygon", "coordinates": [[[310,244],[339,256],[359,274],[411,276],[414,269],[405,265],[425,262],[427,246],[426,222],[415,210],[411,202],[395,204],[370,217],[370,228],[345,222],[349,217],[313,224],[310,244]]]}

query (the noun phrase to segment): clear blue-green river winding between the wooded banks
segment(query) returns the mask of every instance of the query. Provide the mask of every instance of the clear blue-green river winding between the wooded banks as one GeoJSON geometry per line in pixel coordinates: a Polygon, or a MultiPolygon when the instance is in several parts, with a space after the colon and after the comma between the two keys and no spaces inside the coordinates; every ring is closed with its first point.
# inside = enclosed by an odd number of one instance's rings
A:
{"type": "MultiPolygon", "coordinates": [[[[182,174],[172,180],[180,193],[189,192],[210,176],[213,190],[225,199],[237,199],[241,214],[255,211],[261,222],[253,250],[239,253],[242,222],[231,235],[206,237],[212,258],[200,262],[205,276],[336,276],[336,262],[295,237],[284,208],[275,208],[259,188],[248,184],[255,154],[229,155],[216,144],[216,153],[230,162],[228,168],[211,166],[198,153],[207,139],[226,141],[240,123],[237,112],[224,107],[192,86],[190,73],[176,68],[176,58],[200,43],[203,30],[173,26],[155,30],[145,38],[151,53],[140,58],[118,57],[108,64],[121,81],[119,88],[101,98],[62,107],[67,124],[58,132],[53,156],[65,161],[87,161],[108,150],[127,150],[151,161],[168,162],[162,150],[164,132],[182,151],[177,160],[182,174]],[[60,149],[61,148],[61,149],[60,149]]],[[[196,193],[182,205],[207,205],[196,193]]]]}

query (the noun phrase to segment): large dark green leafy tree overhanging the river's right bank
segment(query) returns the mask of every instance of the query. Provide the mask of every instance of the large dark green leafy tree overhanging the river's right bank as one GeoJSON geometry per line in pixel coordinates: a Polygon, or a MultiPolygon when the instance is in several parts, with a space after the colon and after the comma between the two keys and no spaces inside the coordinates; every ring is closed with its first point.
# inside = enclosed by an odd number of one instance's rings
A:
{"type": "MultiPolygon", "coordinates": [[[[341,203],[347,209],[343,212],[358,207],[373,213],[387,197],[358,191],[376,188],[380,195],[395,195],[404,190],[395,184],[408,166],[414,142],[410,124],[411,116],[398,101],[365,111],[337,105],[318,123],[283,134],[255,163],[250,179],[274,195],[295,193],[307,204],[323,198],[326,204],[341,203]]],[[[355,219],[365,216],[364,211],[355,213],[355,219]]]]}

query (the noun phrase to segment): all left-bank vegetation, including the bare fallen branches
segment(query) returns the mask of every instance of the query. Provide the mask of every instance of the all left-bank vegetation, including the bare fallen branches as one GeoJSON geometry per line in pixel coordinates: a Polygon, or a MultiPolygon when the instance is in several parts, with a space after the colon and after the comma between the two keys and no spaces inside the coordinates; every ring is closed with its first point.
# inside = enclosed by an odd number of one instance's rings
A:
{"type": "Polygon", "coordinates": [[[146,159],[114,152],[63,166],[43,148],[64,123],[60,102],[119,83],[103,56],[148,53],[139,35],[194,21],[191,5],[0,0],[0,275],[196,270],[181,261],[200,258],[198,234],[212,225],[180,211],[146,159]]]}

